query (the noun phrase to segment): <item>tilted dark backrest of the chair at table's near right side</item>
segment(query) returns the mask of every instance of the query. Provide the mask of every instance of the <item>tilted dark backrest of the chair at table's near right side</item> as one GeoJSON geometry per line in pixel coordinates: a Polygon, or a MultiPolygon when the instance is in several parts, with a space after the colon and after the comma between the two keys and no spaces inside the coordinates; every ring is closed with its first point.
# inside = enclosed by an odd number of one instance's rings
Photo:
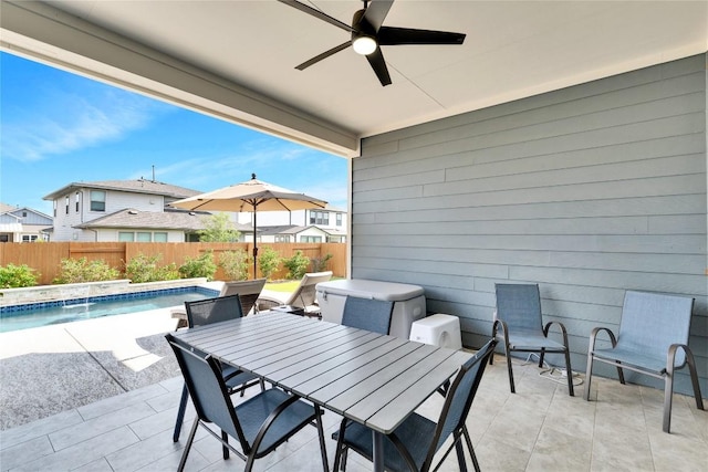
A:
{"type": "MultiPolygon", "coordinates": [[[[494,353],[496,345],[497,340],[490,339],[471,359],[462,365],[460,371],[455,377],[435,430],[435,438],[433,440],[435,449],[428,451],[426,459],[428,466],[433,462],[433,457],[442,447],[447,438],[465,424],[479,382],[482,379],[482,374],[485,374],[485,368],[487,364],[489,364],[489,356],[494,353]]],[[[423,470],[426,470],[426,468],[424,466],[423,470]]]]}

